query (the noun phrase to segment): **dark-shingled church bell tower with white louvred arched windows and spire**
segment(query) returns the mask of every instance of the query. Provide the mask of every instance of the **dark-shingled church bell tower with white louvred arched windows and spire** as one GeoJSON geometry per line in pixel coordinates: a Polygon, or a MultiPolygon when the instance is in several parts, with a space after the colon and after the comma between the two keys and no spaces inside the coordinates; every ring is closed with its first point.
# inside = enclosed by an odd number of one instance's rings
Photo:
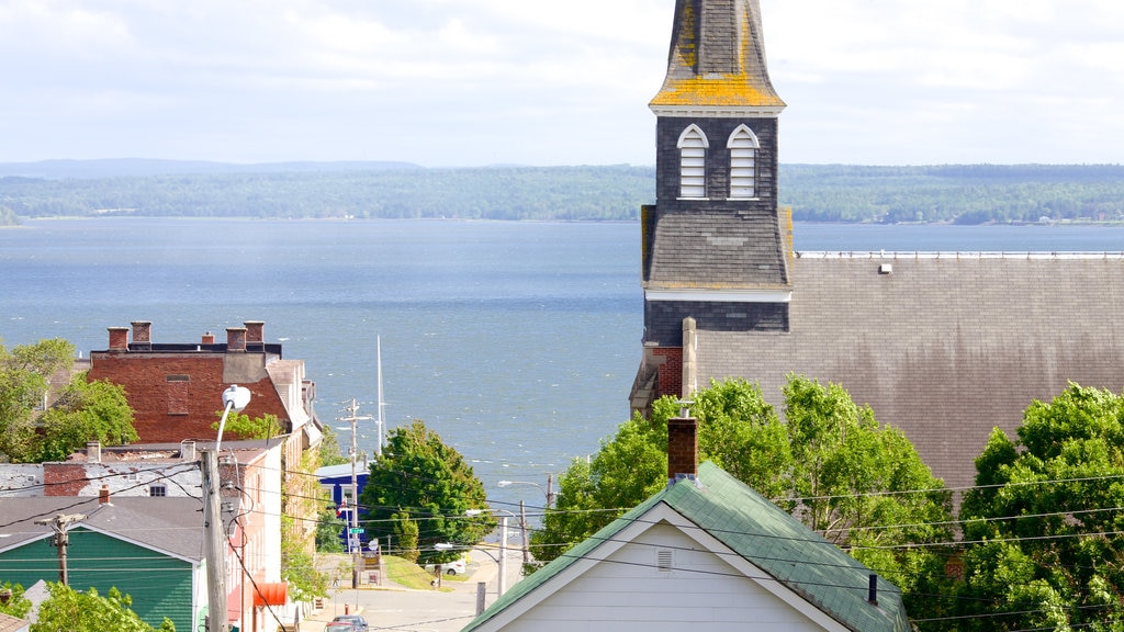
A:
{"type": "Polygon", "coordinates": [[[642,211],[644,360],[633,408],[688,396],[697,331],[782,333],[791,214],[758,0],[676,0],[656,116],[656,204],[642,211]]]}

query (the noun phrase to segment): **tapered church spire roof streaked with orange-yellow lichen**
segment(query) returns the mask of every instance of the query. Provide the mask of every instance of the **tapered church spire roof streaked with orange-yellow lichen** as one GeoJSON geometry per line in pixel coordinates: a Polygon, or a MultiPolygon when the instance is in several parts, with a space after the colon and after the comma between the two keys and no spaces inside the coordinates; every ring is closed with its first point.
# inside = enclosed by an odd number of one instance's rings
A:
{"type": "Polygon", "coordinates": [[[758,0],[677,0],[668,74],[650,107],[779,114],[785,102],[769,81],[758,0]]]}

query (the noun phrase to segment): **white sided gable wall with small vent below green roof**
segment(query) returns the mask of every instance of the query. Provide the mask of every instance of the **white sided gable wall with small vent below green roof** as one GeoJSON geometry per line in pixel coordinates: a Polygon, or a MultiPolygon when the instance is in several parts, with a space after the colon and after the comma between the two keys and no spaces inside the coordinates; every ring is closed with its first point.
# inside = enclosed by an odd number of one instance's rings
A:
{"type": "Polygon", "coordinates": [[[825,629],[774,595],[771,590],[777,589],[777,584],[763,571],[746,574],[745,561],[741,558],[737,561],[741,569],[723,556],[700,547],[679,527],[663,522],[619,547],[502,630],[801,632],[825,629]],[[664,554],[670,551],[672,570],[659,568],[659,551],[664,554]]]}

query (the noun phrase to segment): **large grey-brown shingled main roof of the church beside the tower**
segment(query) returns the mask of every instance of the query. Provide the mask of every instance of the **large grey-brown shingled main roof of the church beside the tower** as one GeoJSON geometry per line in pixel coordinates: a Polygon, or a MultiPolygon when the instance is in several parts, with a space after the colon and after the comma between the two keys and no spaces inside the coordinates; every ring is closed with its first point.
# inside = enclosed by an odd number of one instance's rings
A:
{"type": "Polygon", "coordinates": [[[699,383],[744,377],[779,409],[790,371],[839,382],[962,487],[991,428],[1013,433],[1033,399],[1068,380],[1121,392],[1122,308],[1118,254],[803,255],[790,333],[698,332],[699,383]]]}

